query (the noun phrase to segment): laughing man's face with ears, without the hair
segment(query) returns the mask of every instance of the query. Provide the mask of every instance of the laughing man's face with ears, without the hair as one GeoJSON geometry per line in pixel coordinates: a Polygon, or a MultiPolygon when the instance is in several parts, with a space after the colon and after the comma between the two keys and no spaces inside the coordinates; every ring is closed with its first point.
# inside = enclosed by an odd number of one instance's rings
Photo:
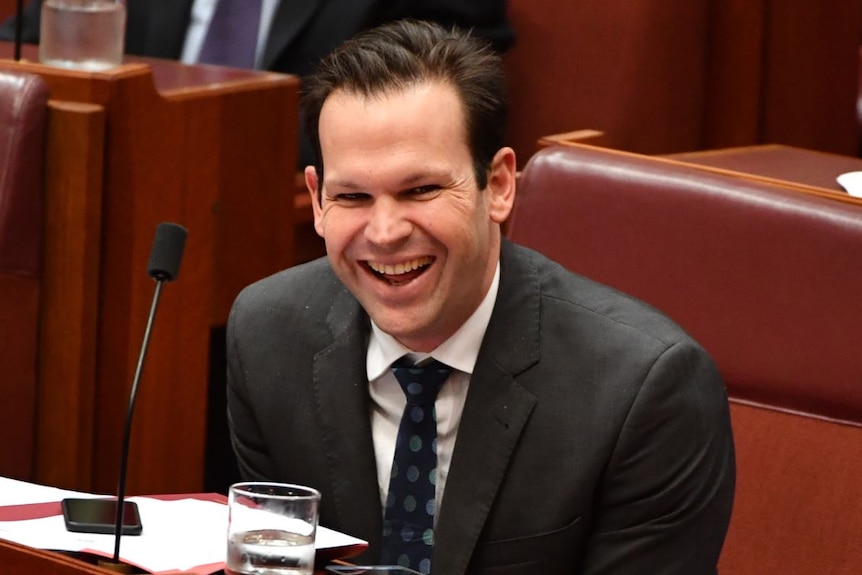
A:
{"type": "Polygon", "coordinates": [[[336,91],[319,132],[322,205],[313,167],[306,182],[335,273],[381,329],[433,350],[491,285],[514,152],[497,152],[478,189],[460,99],[439,82],[373,97],[336,91]]]}

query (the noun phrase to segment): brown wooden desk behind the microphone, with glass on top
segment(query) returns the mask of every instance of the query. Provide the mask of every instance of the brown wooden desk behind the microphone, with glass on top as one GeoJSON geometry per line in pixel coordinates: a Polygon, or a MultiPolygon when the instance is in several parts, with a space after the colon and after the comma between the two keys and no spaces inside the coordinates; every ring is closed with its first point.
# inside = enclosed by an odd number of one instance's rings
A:
{"type": "MultiPolygon", "coordinates": [[[[143,59],[77,72],[36,63],[35,50],[26,46],[25,60],[0,60],[0,68],[38,73],[52,100],[101,111],[103,140],[79,125],[53,140],[57,150],[89,142],[97,153],[83,170],[89,185],[79,186],[86,197],[71,195],[65,180],[47,174],[34,479],[115,490],[129,386],[154,289],[146,265],[156,225],[169,220],[186,226],[189,239],[153,328],[128,492],[199,491],[210,328],[226,322],[243,286],[293,261],[299,81],[143,59]],[[78,241],[70,243],[70,235],[78,241]],[[85,269],[67,265],[69,258],[85,269]],[[79,325],[81,318],[93,318],[92,329],[79,325]]],[[[12,51],[0,43],[0,57],[12,51]]]]}

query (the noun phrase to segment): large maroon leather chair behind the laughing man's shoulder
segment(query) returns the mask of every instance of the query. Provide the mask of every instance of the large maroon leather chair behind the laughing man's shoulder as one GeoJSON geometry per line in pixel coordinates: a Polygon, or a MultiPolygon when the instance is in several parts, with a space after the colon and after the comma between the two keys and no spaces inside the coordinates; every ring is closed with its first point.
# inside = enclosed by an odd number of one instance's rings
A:
{"type": "Polygon", "coordinates": [[[537,153],[509,237],[661,309],[731,397],[720,572],[862,564],[862,208],[593,146],[537,153]]]}

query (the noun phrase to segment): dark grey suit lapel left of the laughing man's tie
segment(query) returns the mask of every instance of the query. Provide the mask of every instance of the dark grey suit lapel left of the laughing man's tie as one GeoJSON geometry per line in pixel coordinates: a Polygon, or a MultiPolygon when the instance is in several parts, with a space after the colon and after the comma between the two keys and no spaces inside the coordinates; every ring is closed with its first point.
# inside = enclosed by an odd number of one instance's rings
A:
{"type": "Polygon", "coordinates": [[[365,372],[368,319],[345,289],[327,322],[334,341],[314,357],[314,390],[332,504],[339,527],[367,540],[375,552],[383,524],[365,372]]]}

